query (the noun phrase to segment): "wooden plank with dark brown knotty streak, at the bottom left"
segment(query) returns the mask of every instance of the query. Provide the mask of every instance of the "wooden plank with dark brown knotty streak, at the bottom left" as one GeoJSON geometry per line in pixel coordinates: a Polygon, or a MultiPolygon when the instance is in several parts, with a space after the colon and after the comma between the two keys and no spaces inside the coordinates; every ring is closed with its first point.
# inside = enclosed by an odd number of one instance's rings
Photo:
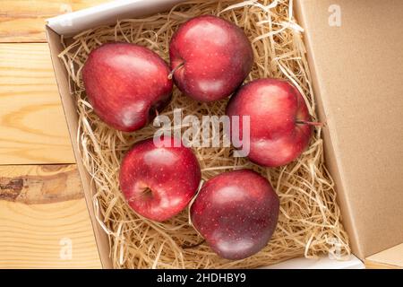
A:
{"type": "Polygon", "coordinates": [[[0,268],[101,267],[75,165],[0,167],[0,234],[0,268]]]}

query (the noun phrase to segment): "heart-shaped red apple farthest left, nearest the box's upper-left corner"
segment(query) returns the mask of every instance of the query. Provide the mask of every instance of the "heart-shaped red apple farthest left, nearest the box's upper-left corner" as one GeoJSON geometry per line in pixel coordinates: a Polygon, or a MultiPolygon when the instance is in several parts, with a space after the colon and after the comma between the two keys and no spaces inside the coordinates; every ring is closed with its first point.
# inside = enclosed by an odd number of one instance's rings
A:
{"type": "Polygon", "coordinates": [[[117,130],[146,126],[171,98],[169,67],[148,48],[109,43],[91,51],[82,79],[99,118],[117,130]]]}

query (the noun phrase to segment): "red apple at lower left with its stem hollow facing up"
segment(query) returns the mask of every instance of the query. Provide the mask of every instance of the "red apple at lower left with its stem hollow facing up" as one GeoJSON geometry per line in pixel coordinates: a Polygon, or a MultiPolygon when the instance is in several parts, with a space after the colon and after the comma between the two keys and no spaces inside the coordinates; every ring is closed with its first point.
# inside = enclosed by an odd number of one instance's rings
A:
{"type": "Polygon", "coordinates": [[[156,222],[184,210],[200,184],[199,161],[178,141],[164,137],[160,146],[150,138],[136,143],[122,161],[119,181],[124,197],[136,213],[156,222]],[[174,147],[174,141],[180,147],[174,147]]]}

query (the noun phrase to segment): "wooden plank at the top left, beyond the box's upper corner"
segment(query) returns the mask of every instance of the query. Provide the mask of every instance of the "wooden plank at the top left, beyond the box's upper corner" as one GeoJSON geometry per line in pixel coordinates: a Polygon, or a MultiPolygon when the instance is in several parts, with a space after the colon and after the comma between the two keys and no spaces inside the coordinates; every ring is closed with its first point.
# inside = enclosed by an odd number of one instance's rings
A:
{"type": "Polygon", "coordinates": [[[45,42],[46,19],[110,0],[2,0],[0,42],[45,42]]]}

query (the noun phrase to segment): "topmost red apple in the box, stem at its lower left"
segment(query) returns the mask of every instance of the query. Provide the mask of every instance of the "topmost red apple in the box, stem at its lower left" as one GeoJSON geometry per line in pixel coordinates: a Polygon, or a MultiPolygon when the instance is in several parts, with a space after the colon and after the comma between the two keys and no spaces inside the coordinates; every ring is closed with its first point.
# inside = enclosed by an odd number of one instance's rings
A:
{"type": "Polygon", "coordinates": [[[221,100],[244,82],[253,49],[244,31],[212,15],[195,17],[176,31],[169,44],[176,86],[199,101],[221,100]]]}

